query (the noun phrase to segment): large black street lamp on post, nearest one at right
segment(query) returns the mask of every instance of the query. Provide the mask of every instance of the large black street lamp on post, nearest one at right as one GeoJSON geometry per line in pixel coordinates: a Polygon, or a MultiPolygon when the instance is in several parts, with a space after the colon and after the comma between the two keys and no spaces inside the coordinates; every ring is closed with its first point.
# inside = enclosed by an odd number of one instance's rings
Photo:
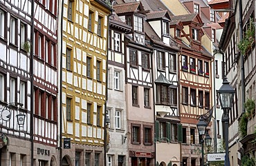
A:
{"type": "Polygon", "coordinates": [[[232,107],[234,94],[235,94],[235,90],[230,86],[229,82],[225,78],[223,80],[221,88],[217,90],[217,95],[221,103],[221,107],[224,114],[223,121],[225,121],[225,146],[226,146],[225,166],[228,166],[228,159],[229,159],[228,158],[228,123],[229,123],[228,111],[232,107]]]}

